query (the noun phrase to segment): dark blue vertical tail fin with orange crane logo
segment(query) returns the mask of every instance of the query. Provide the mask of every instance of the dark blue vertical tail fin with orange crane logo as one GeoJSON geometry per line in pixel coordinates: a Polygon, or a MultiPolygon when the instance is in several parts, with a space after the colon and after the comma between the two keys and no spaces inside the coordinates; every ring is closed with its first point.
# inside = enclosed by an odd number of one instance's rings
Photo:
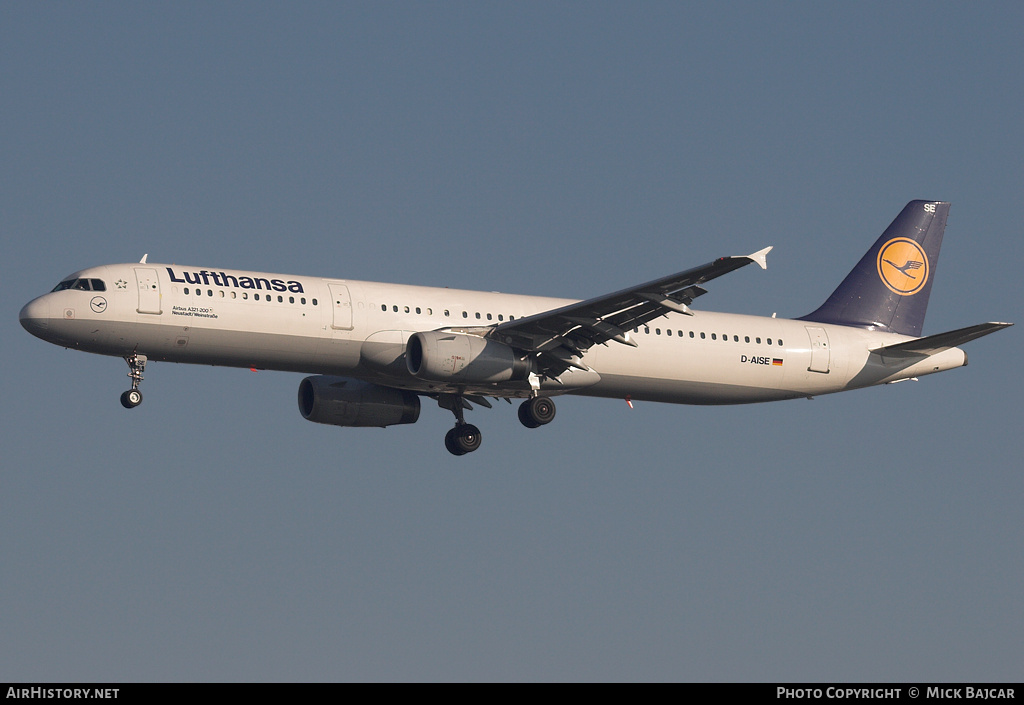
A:
{"type": "Polygon", "coordinates": [[[802,321],[921,336],[949,215],[944,201],[910,201],[839,288],[802,321]]]}

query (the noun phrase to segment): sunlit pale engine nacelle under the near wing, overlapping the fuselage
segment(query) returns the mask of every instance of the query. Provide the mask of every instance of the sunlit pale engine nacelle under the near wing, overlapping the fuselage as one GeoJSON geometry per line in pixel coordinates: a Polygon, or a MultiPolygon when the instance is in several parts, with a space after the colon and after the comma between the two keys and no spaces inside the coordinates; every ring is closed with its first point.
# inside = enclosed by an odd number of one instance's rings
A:
{"type": "Polygon", "coordinates": [[[420,379],[467,384],[522,381],[534,371],[532,360],[520,360],[505,343],[439,331],[410,337],[406,366],[420,379]]]}

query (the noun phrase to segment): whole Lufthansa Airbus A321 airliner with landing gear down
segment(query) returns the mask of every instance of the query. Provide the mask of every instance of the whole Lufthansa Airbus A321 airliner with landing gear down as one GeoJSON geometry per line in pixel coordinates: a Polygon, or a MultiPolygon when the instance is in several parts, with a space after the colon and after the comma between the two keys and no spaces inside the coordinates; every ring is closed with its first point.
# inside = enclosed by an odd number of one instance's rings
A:
{"type": "Polygon", "coordinates": [[[444,446],[480,447],[472,404],[524,400],[530,428],[553,397],[675,404],[810,398],[967,365],[956,347],[1010,326],[920,337],[949,204],[912,201],[819,308],[783,320],[690,308],[713,279],[767,247],[585,301],[234,269],[108,264],[30,301],[22,325],[56,345],[124,358],[128,409],[148,361],[305,372],[317,423],[414,423],[421,399],[451,411],[444,446]]]}

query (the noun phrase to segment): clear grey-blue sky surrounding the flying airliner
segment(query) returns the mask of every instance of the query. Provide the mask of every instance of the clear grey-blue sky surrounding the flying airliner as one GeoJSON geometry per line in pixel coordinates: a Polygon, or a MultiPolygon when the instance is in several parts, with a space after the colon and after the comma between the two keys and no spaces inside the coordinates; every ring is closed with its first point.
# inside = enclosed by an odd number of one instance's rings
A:
{"type": "MultiPolygon", "coordinates": [[[[588,297],[775,249],[816,307],[952,202],[925,332],[1024,321],[1024,5],[0,4],[0,680],[1020,680],[1020,329],[738,408],[304,421],[19,307],[152,261],[588,297]]],[[[681,364],[684,361],[681,361],[681,364]]]]}

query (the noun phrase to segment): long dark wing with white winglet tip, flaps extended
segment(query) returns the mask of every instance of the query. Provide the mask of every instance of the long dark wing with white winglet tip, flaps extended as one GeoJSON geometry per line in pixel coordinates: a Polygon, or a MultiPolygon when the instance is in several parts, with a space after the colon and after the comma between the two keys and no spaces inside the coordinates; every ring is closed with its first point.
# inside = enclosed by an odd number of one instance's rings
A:
{"type": "Polygon", "coordinates": [[[701,284],[751,262],[767,268],[766,255],[771,249],[766,247],[749,255],[720,257],[646,284],[502,323],[489,329],[486,335],[516,349],[535,354],[542,372],[552,377],[569,367],[587,370],[581,359],[593,345],[613,340],[636,347],[630,330],[669,313],[692,316],[689,304],[708,293],[701,284]]]}

